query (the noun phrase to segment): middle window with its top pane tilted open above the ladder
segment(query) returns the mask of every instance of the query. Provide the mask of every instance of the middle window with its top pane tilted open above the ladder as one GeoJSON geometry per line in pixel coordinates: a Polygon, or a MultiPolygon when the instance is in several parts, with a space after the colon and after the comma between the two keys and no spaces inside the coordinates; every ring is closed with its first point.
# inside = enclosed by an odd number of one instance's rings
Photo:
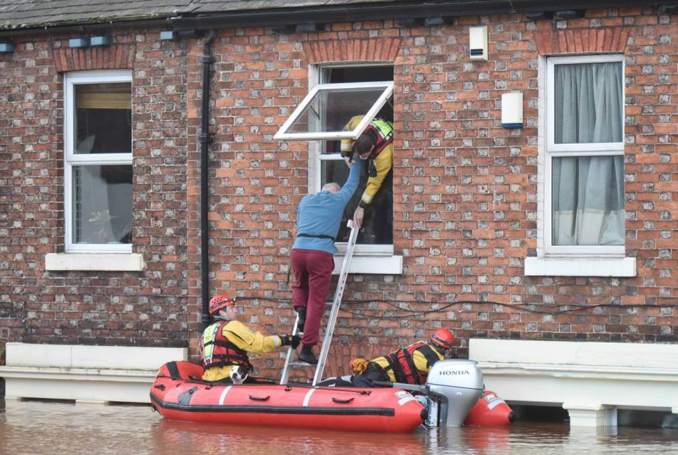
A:
{"type": "MultiPolygon", "coordinates": [[[[373,119],[392,124],[392,65],[315,67],[309,94],[299,104],[275,138],[310,140],[309,191],[325,183],[343,184],[348,167],[341,158],[341,142],[355,140],[373,119]]],[[[389,164],[389,167],[392,165],[389,164]]],[[[393,254],[393,171],[389,171],[366,210],[355,254],[393,254]]],[[[348,240],[346,222],[360,203],[369,179],[369,163],[363,170],[353,199],[344,210],[337,246],[348,240]]]]}

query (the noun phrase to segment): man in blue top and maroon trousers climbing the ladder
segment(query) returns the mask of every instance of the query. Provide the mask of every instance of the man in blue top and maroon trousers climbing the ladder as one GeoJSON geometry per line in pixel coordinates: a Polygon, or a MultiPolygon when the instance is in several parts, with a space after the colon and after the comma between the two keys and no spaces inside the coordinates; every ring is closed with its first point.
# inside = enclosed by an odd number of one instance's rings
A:
{"type": "Polygon", "coordinates": [[[334,270],[334,238],[344,208],[355,192],[360,179],[360,156],[353,154],[348,179],[341,188],[328,183],[321,192],[306,195],[297,210],[297,238],[292,245],[292,270],[296,283],[292,287],[292,301],[299,313],[298,328],[303,331],[299,360],[315,365],[313,354],[318,344],[320,322],[330,290],[334,270]]]}

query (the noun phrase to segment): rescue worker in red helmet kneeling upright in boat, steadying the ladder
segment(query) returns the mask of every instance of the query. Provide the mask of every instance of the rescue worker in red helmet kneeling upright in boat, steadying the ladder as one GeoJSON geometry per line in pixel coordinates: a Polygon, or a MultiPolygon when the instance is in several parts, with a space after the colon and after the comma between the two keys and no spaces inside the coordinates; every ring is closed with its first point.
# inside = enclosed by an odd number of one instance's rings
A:
{"type": "Polygon", "coordinates": [[[266,354],[282,346],[296,349],[296,335],[264,336],[236,320],[234,300],[216,295],[209,301],[209,314],[214,322],[207,326],[200,341],[203,381],[219,383],[256,382],[250,378],[252,364],[248,352],[266,354]]]}

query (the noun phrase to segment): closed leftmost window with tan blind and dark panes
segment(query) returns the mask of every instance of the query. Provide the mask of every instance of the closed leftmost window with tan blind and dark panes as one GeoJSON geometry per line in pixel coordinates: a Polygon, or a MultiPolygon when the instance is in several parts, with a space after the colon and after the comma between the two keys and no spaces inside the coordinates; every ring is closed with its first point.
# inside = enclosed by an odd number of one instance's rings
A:
{"type": "Polygon", "coordinates": [[[65,251],[131,252],[131,72],[65,76],[65,251]]]}

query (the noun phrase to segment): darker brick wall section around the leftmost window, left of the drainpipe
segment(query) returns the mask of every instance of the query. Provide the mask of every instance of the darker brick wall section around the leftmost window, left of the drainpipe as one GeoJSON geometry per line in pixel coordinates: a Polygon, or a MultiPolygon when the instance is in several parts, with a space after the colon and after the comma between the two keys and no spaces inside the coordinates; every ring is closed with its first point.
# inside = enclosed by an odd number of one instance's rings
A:
{"type": "Polygon", "coordinates": [[[0,57],[3,340],[186,345],[186,50],[159,31],[104,49],[66,35],[17,39],[0,57]],[[46,272],[63,251],[63,72],[133,69],[134,251],[147,270],[46,272]],[[7,328],[9,330],[7,330],[7,328]]]}

